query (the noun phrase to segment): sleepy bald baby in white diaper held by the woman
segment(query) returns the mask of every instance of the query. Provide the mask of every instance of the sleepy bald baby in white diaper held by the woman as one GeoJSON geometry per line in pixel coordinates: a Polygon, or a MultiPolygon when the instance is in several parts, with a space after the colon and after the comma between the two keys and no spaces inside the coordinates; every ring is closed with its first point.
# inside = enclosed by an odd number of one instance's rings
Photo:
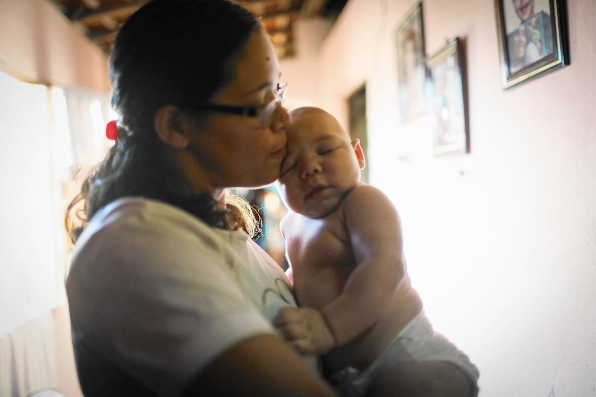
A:
{"type": "Polygon", "coordinates": [[[322,354],[344,396],[475,396],[476,366],[434,333],[406,273],[398,212],[359,182],[364,155],[319,108],[291,112],[277,189],[300,308],[274,320],[297,351],[322,354]]]}

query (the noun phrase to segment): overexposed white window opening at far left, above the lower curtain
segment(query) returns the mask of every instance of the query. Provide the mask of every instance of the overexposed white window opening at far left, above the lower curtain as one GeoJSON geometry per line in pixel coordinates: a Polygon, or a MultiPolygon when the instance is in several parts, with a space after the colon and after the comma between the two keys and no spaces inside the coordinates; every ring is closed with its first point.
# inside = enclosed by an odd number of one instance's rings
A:
{"type": "Polygon", "coordinates": [[[48,92],[0,73],[0,335],[55,305],[48,92]]]}

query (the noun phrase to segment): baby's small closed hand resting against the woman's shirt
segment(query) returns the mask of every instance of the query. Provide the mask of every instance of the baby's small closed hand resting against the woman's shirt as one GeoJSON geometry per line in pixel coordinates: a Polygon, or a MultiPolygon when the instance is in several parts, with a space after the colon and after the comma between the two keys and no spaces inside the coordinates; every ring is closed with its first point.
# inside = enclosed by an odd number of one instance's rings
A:
{"type": "Polygon", "coordinates": [[[296,351],[304,354],[323,354],[333,348],[331,331],[318,310],[284,307],[273,319],[296,351]]]}

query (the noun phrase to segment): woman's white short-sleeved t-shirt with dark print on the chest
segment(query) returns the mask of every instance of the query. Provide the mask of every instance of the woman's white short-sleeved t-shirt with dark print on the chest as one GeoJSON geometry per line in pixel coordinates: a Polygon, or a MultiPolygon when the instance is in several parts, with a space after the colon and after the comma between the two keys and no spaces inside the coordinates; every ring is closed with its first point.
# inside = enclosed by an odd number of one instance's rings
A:
{"type": "Polygon", "coordinates": [[[240,230],[148,199],[107,205],[77,240],[66,282],[83,391],[180,393],[216,355],[274,333],[280,308],[296,306],[289,286],[240,230]]]}

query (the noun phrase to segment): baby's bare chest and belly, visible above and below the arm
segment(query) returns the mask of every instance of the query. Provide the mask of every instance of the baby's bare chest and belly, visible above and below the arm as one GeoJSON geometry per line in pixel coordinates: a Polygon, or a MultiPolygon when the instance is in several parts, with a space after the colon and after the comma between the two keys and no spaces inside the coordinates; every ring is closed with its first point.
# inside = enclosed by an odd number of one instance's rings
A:
{"type": "MultiPolygon", "coordinates": [[[[362,185],[355,189],[362,189],[362,185]]],[[[350,195],[336,211],[324,218],[312,219],[289,212],[282,221],[281,229],[291,265],[288,273],[293,280],[296,300],[302,307],[322,310],[343,292],[357,266],[345,220],[346,211],[358,211],[358,208],[350,208],[350,195]]],[[[398,265],[405,266],[405,261],[396,263],[398,265]]],[[[421,310],[420,298],[404,271],[387,310],[372,327],[351,342],[325,354],[327,368],[365,368],[421,310]]],[[[358,322],[358,314],[354,313],[349,320],[358,322]]]]}

